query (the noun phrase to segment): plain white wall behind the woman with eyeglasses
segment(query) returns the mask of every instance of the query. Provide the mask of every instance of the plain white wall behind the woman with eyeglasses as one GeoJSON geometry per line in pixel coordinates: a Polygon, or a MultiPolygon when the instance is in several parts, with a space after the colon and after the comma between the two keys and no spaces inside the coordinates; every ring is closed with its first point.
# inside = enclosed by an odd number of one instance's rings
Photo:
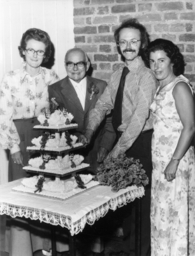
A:
{"type": "MultiPolygon", "coordinates": [[[[55,49],[52,68],[64,78],[64,56],[75,46],[73,0],[0,0],[0,81],[5,72],[20,67],[18,45],[29,28],[40,28],[50,35],[55,49]]],[[[3,174],[7,172],[6,158],[0,148],[0,184],[7,181],[3,174]]]]}

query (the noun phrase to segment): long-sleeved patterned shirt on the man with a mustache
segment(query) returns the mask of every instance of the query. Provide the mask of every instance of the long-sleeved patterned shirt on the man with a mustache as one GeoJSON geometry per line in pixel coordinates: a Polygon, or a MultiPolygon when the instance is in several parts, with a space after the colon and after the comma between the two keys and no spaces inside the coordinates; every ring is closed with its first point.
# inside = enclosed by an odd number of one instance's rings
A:
{"type": "MultiPolygon", "coordinates": [[[[118,127],[118,131],[123,133],[112,150],[113,157],[126,152],[138,138],[141,131],[152,129],[152,116],[149,108],[154,99],[158,82],[152,70],[145,67],[140,56],[131,61],[127,67],[130,72],[126,76],[124,85],[122,124],[118,127]]],[[[120,67],[112,74],[105,92],[96,103],[96,108],[90,111],[87,129],[95,131],[105,115],[113,109],[123,68],[120,67]]]]}

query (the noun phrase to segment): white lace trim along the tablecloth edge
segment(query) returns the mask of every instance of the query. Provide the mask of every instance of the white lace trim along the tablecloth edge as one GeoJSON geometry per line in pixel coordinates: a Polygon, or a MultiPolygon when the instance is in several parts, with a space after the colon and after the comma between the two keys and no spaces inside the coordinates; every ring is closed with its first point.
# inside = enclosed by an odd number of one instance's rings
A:
{"type": "Polygon", "coordinates": [[[110,199],[105,204],[97,207],[96,209],[88,212],[85,216],[80,218],[76,222],[72,222],[71,217],[63,214],[57,214],[41,209],[33,209],[30,207],[22,207],[13,204],[2,203],[0,205],[0,214],[10,215],[12,218],[25,217],[31,218],[31,220],[40,220],[51,225],[61,225],[70,230],[71,235],[82,232],[85,224],[93,225],[96,220],[106,215],[109,209],[115,211],[117,207],[122,207],[129,202],[133,202],[135,198],[140,198],[144,195],[144,188],[136,188],[127,193],[117,196],[116,198],[110,199]]]}

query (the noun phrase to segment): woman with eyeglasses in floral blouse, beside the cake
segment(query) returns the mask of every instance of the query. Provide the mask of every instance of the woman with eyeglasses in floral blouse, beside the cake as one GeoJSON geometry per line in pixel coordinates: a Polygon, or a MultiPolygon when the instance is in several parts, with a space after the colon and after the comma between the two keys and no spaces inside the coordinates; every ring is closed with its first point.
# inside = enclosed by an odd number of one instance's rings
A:
{"type": "MultiPolygon", "coordinates": [[[[31,145],[32,138],[40,135],[32,131],[32,127],[39,124],[37,116],[41,110],[49,106],[48,86],[59,81],[54,70],[41,67],[52,52],[50,36],[45,31],[28,29],[18,49],[24,63],[4,75],[0,90],[0,145],[10,149],[9,181],[26,176],[22,170],[29,159],[26,148],[31,145]]],[[[34,228],[36,231],[31,239],[28,221],[11,218],[10,256],[32,256],[32,247],[34,251],[41,249],[38,236],[41,225],[39,228],[34,228]]]]}

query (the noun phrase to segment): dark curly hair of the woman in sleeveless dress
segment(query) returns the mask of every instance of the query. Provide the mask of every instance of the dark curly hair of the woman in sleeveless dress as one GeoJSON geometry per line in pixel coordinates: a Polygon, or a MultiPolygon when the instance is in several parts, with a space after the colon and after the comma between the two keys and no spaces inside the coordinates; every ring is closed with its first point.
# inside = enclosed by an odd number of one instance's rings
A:
{"type": "Polygon", "coordinates": [[[173,63],[173,73],[175,76],[184,74],[185,61],[184,56],[181,54],[177,45],[173,44],[170,40],[158,38],[152,41],[145,51],[146,65],[150,67],[150,52],[164,51],[171,63],[173,63]]]}

